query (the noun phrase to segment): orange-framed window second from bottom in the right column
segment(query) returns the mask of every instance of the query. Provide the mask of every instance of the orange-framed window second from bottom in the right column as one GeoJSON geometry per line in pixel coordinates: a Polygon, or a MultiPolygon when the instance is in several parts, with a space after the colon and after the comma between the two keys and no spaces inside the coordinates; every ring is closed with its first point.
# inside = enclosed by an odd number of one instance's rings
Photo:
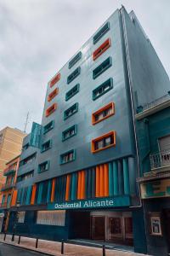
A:
{"type": "Polygon", "coordinates": [[[115,104],[113,102],[107,104],[105,107],[100,108],[92,114],[92,124],[95,125],[104,119],[109,118],[115,113],[115,104]]]}

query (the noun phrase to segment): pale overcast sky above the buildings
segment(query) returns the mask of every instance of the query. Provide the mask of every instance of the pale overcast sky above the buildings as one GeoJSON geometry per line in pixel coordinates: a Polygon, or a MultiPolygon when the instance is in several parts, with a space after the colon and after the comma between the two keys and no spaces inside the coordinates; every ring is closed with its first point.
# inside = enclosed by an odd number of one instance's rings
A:
{"type": "Polygon", "coordinates": [[[48,80],[122,4],[170,76],[170,0],[0,0],[0,129],[41,123],[48,80]]]}

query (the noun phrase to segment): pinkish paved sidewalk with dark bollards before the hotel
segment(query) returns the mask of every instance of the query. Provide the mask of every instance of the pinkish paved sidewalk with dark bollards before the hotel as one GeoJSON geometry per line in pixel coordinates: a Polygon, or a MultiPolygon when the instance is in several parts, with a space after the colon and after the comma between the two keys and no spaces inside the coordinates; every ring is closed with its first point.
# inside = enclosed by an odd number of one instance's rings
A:
{"type": "MultiPolygon", "coordinates": [[[[0,234],[0,242],[14,245],[17,247],[23,247],[26,249],[33,250],[39,253],[47,253],[47,255],[60,256],[61,254],[61,243],[58,241],[47,241],[38,240],[38,246],[36,248],[36,239],[21,236],[20,244],[18,244],[19,236],[14,236],[14,241],[11,241],[11,235],[6,236],[6,240],[3,241],[4,234],[0,234]]],[[[65,243],[65,254],[71,256],[102,256],[102,248],[80,246],[75,244],[65,243]]],[[[145,254],[122,252],[117,250],[105,251],[106,256],[144,256],[145,254]]]]}

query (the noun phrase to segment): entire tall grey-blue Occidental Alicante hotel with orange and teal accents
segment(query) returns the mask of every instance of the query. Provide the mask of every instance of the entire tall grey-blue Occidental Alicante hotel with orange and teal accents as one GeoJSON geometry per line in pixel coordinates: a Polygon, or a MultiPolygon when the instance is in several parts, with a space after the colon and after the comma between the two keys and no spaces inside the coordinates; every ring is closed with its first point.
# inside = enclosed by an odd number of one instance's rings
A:
{"type": "Polygon", "coordinates": [[[136,114],[169,87],[139,20],[117,9],[48,82],[42,124],[20,156],[17,232],[146,253],[136,114]]]}

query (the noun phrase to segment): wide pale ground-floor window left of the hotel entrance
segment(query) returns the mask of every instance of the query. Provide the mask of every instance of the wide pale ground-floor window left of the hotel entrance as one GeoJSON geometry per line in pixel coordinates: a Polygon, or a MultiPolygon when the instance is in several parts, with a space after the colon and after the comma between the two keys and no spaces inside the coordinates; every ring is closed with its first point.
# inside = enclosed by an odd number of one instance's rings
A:
{"type": "Polygon", "coordinates": [[[65,210],[37,211],[37,224],[65,226],[65,210]]]}

